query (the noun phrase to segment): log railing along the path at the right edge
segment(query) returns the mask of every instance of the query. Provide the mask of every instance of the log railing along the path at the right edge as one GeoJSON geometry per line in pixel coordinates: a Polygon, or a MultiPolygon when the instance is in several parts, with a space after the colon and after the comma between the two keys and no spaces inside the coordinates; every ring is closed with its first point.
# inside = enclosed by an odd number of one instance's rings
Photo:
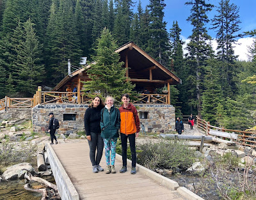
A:
{"type": "Polygon", "coordinates": [[[207,135],[214,135],[216,137],[221,137],[225,140],[234,140],[243,146],[251,146],[256,148],[256,133],[243,131],[243,130],[232,130],[227,128],[214,127],[210,125],[209,121],[200,119],[196,116],[197,125],[202,128],[207,135]]]}

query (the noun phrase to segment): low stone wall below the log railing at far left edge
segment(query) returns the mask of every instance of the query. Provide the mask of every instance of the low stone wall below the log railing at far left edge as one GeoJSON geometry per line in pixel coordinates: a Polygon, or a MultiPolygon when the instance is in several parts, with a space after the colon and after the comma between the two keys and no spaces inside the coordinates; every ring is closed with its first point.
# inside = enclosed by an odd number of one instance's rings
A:
{"type": "Polygon", "coordinates": [[[31,119],[31,108],[8,108],[7,111],[0,111],[0,123],[6,119],[31,119]]]}

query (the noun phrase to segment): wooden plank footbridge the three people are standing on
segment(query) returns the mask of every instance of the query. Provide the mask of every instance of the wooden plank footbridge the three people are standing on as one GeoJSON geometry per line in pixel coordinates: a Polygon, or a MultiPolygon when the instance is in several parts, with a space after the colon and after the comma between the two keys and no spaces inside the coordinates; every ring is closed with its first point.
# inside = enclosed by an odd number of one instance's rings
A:
{"type": "MultiPolygon", "coordinates": [[[[164,176],[137,165],[137,173],[119,173],[122,157],[116,155],[116,174],[92,173],[89,146],[84,141],[59,142],[46,145],[52,173],[61,199],[201,199],[193,192],[164,176]]],[[[130,164],[130,166],[129,166],[130,164]]],[[[100,165],[106,170],[104,155],[100,165]]]]}

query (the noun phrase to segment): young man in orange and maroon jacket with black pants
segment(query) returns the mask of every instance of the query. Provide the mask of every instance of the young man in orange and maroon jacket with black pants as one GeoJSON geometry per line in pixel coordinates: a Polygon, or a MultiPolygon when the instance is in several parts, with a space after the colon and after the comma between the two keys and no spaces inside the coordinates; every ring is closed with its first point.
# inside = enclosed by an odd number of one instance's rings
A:
{"type": "Polygon", "coordinates": [[[131,174],[136,174],[136,148],[135,137],[138,137],[140,132],[140,119],[136,107],[129,103],[129,95],[122,95],[122,102],[124,103],[120,108],[121,125],[120,134],[122,142],[122,160],[123,167],[120,173],[127,171],[127,139],[129,138],[130,149],[132,154],[132,169],[131,174]]]}

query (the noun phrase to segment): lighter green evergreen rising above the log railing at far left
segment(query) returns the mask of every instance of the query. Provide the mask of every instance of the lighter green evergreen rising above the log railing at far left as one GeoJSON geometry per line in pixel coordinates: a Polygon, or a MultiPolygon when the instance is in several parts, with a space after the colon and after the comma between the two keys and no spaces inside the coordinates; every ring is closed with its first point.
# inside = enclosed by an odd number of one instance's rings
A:
{"type": "MultiPolygon", "coordinates": [[[[42,46],[38,42],[31,20],[24,24],[24,41],[17,46],[17,61],[19,66],[18,89],[25,96],[33,96],[36,86],[42,82],[44,77],[44,65],[40,63],[42,46]]],[[[10,77],[9,77],[10,78],[10,77]]]]}

